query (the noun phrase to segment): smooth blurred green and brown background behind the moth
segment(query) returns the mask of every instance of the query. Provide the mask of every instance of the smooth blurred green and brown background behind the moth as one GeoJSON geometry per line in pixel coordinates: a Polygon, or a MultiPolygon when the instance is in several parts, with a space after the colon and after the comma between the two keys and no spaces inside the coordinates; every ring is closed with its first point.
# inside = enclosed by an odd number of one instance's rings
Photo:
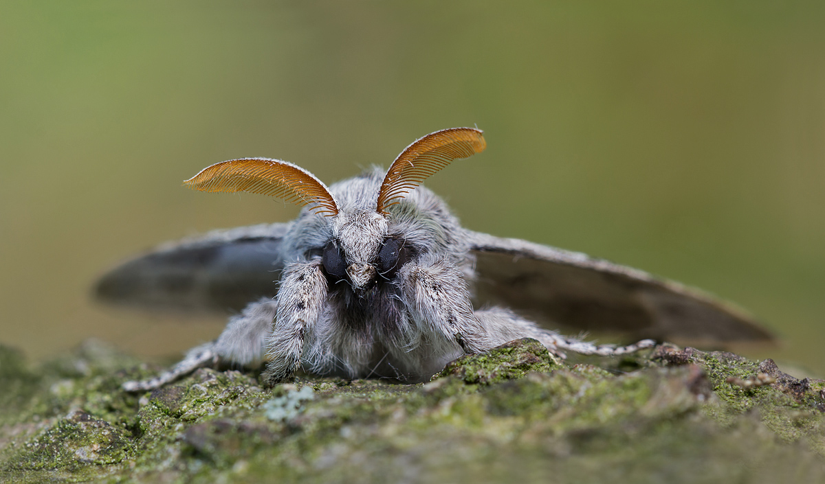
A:
{"type": "Polygon", "coordinates": [[[825,375],[825,15],[787,2],[2,2],[0,342],[211,339],[89,297],[297,213],[181,180],[269,156],[331,183],[473,125],[488,150],[427,181],[465,226],[714,292],[784,339],[748,355],[825,375]]]}

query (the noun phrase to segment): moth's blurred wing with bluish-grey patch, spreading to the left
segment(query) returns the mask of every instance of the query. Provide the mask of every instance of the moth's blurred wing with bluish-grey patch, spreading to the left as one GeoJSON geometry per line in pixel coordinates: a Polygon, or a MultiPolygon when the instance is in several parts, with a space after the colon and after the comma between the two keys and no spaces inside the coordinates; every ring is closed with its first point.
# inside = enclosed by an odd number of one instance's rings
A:
{"type": "Polygon", "coordinates": [[[149,308],[238,311],[276,295],[289,225],[214,230],[163,244],[101,277],[95,295],[149,308]]]}

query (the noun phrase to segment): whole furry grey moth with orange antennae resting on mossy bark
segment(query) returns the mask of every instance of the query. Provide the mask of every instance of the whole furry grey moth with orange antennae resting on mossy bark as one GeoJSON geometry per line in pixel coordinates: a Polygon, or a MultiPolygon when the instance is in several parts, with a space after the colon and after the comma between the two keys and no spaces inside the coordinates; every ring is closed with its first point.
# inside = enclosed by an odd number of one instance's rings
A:
{"type": "Polygon", "coordinates": [[[104,300],[239,311],[154,389],[205,365],[266,363],[268,384],[298,370],[420,382],[447,362],[521,337],[549,351],[615,356],[654,339],[770,341],[746,314],[700,291],[585,254],[464,229],[424,179],[484,150],[451,128],[413,142],[389,170],[330,187],[286,161],[243,158],[184,182],[304,207],[295,221],[165,244],[101,278],[104,300]],[[644,337],[596,345],[555,328],[644,337]]]}

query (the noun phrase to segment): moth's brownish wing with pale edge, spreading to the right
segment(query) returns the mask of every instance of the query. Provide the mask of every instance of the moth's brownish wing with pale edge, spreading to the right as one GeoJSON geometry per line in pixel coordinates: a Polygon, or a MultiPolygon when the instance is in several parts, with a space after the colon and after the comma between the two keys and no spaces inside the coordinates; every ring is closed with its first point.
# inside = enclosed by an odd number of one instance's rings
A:
{"type": "Polygon", "coordinates": [[[470,232],[476,300],[548,328],[722,345],[775,337],[742,310],[701,291],[586,254],[470,232]]]}

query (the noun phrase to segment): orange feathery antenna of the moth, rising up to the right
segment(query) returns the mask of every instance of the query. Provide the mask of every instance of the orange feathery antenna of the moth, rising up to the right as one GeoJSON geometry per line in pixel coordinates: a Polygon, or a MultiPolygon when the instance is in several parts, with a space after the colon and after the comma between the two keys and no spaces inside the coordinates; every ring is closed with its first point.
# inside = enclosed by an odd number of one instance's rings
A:
{"type": "Polygon", "coordinates": [[[487,142],[482,131],[474,128],[450,128],[430,133],[413,142],[393,161],[378,192],[376,210],[389,215],[387,207],[395,205],[428,176],[450,161],[467,158],[484,151],[487,142]]]}

